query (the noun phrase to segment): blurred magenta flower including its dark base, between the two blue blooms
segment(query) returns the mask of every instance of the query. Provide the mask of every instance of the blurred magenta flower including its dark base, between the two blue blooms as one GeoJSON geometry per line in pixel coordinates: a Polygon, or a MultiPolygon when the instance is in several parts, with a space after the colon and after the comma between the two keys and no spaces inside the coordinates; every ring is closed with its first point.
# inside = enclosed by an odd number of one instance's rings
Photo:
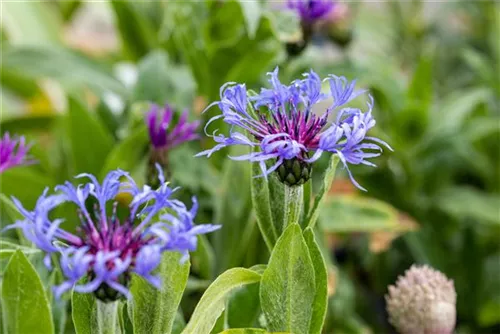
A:
{"type": "Polygon", "coordinates": [[[157,169],[156,164],[162,167],[162,170],[168,173],[168,151],[187,141],[199,138],[196,130],[200,124],[199,121],[188,122],[187,111],[184,111],[177,123],[172,126],[174,110],[169,106],[161,108],[152,104],[146,114],[146,125],[149,131],[151,141],[151,151],[149,157],[149,168],[147,171],[148,184],[156,185],[157,169]]]}

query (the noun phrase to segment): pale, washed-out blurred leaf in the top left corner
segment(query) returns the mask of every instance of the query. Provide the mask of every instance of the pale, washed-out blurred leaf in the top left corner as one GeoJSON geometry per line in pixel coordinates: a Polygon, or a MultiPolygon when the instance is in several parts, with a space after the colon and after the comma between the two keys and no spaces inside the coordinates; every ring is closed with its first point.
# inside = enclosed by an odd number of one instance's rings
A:
{"type": "Polygon", "coordinates": [[[11,45],[60,44],[61,20],[47,3],[3,3],[2,28],[11,45]]]}

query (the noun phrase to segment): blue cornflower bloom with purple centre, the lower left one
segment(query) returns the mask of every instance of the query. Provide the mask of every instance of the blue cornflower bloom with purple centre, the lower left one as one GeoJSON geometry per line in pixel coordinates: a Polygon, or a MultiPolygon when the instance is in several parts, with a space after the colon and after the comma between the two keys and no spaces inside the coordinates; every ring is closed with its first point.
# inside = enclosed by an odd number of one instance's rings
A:
{"type": "Polygon", "coordinates": [[[154,274],[161,254],[177,251],[184,255],[181,261],[185,261],[188,252],[196,248],[197,235],[219,228],[195,225],[196,200],[193,199],[193,208],[188,209],[173,199],[177,189],[168,186],[158,169],[161,185],[156,190],[149,186],[139,188],[128,173],[116,170],[102,183],[91,174],[80,174],[77,178],[86,178],[89,182],[77,187],[66,182],[57,186],[57,193],[53,195],[47,195],[46,189],[33,211],[26,210],[13,198],[23,219],[7,229],[22,229],[26,238],[46,253],[44,262],[49,268],[51,255],[60,254],[65,280],[54,287],[56,297],[71,288],[80,293],[93,292],[103,301],[128,297],[131,273],[161,288],[161,277],[154,274]],[[118,217],[115,201],[121,193],[132,195],[124,219],[118,217]],[[81,221],[77,234],[60,228],[62,219],[51,218],[51,211],[66,202],[76,205],[81,221]],[[91,203],[95,203],[93,210],[88,209],[91,203]],[[84,283],[83,278],[86,278],[84,283]]]}

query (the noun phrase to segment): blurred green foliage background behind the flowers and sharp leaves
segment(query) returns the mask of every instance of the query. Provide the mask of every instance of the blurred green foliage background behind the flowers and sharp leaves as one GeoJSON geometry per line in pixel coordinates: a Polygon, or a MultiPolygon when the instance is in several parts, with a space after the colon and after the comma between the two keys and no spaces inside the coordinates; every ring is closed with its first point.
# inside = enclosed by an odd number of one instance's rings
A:
{"type": "MultiPolygon", "coordinates": [[[[285,83],[312,68],[368,88],[374,131],[394,148],[375,159],[378,168],[353,168],[367,193],[339,170],[321,212],[324,332],[393,333],[387,286],[425,263],[455,282],[457,333],[500,333],[498,2],[338,2],[305,37],[283,1],[2,2],[1,133],[25,135],[39,162],[1,174],[2,225],[15,216],[6,196],[31,208],[44,187],[80,172],[102,177],[119,167],[143,182],[149,102],[203,122],[225,82],[259,89],[275,66],[285,83]]],[[[250,166],[228,152],[193,157],[213,145],[202,136],[169,152],[173,183],[200,199],[199,221],[223,225],[192,255],[186,321],[219,273],[268,257],[252,213],[250,166]]],[[[316,183],[326,164],[315,166],[316,183]]],[[[65,224],[76,226],[76,215],[65,224]]],[[[241,307],[257,314],[258,300],[248,296],[230,303],[244,299],[241,307]]],[[[68,307],[54,301],[60,333],[73,331],[61,316],[68,307]]],[[[232,327],[258,320],[235,319],[232,327]]]]}

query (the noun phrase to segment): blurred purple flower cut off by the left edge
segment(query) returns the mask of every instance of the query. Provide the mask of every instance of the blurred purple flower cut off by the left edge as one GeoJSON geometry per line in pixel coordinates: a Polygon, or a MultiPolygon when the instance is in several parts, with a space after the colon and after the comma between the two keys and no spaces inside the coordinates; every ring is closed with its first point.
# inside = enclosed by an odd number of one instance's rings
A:
{"type": "Polygon", "coordinates": [[[27,155],[30,147],[23,136],[11,138],[6,132],[0,139],[0,173],[15,166],[33,163],[27,155]]]}

